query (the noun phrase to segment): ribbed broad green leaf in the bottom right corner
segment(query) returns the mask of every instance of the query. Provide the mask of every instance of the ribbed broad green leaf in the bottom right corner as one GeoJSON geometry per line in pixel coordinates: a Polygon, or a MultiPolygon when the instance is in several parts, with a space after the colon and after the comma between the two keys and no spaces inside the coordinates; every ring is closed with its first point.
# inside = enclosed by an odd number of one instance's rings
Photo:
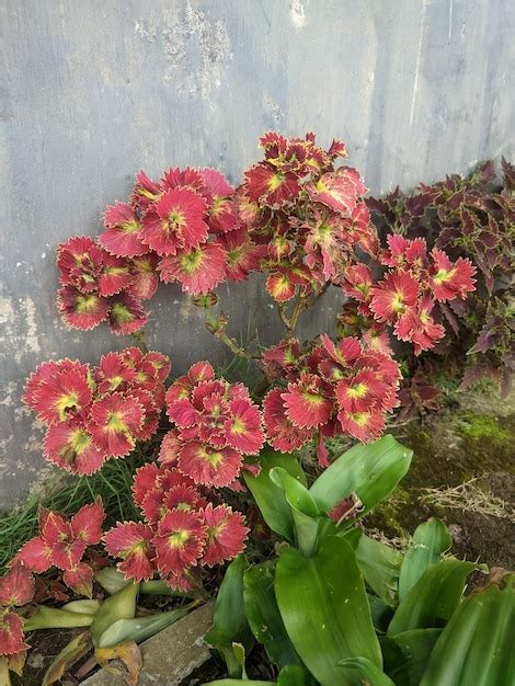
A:
{"type": "Polygon", "coordinates": [[[515,574],[474,591],[436,641],[420,686],[513,686],[515,574]]]}

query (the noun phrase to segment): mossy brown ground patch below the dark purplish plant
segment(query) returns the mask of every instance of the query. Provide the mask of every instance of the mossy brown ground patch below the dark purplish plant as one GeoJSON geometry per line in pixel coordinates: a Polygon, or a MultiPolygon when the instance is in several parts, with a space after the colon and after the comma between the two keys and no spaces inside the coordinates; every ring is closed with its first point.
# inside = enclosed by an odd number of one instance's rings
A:
{"type": "Polygon", "coordinates": [[[514,399],[500,401],[492,389],[459,397],[459,407],[431,423],[393,427],[393,435],[413,449],[410,471],[392,495],[366,518],[387,536],[405,538],[430,516],[449,526],[454,551],[470,560],[515,568],[513,524],[471,508],[442,507],[422,501],[423,489],[457,487],[479,478],[487,493],[515,501],[514,399]],[[473,408],[473,410],[472,410],[473,408]]]}

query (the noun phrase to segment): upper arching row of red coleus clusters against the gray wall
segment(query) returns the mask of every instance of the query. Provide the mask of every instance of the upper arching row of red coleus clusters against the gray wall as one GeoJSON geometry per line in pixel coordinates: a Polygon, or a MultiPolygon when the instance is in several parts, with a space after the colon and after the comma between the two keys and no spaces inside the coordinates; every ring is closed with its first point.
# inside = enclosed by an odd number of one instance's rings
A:
{"type": "Polygon", "coordinates": [[[244,172],[237,188],[210,169],[170,169],[159,182],[137,174],[129,202],[107,208],[96,242],[80,237],[58,249],[61,291],[71,294],[60,296],[67,322],[91,328],[110,317],[116,332],[134,333],[145,318],[128,299],[140,304],[151,297],[159,276],[196,296],[208,330],[249,356],[226,334],[226,317],[215,317],[210,308],[219,284],[244,281],[258,271],[266,275],[288,330],[334,285],[355,301],[346,308],[346,324],[354,313],[352,333],[356,324],[371,335],[390,329],[411,342],[415,354],[440,342],[440,311],[450,311],[446,302],[474,290],[470,261],[451,260],[440,244],[428,253],[424,240],[402,241],[394,235],[381,250],[359,173],[337,165],[346,156],[341,141],[323,150],[312,134],[287,139],[268,132],[260,145],[263,159],[244,172]],[[84,250],[87,241],[93,258],[84,250]],[[145,268],[134,266],[135,260],[145,268]],[[112,305],[110,298],[117,300],[112,305]]]}

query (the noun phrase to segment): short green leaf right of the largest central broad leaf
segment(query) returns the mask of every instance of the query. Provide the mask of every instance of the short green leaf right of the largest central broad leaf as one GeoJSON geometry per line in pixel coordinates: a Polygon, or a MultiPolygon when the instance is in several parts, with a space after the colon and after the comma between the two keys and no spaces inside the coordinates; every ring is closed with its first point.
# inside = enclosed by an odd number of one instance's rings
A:
{"type": "Polygon", "coordinates": [[[365,534],[359,538],[356,559],[368,586],[388,605],[397,605],[402,554],[365,534]]]}

